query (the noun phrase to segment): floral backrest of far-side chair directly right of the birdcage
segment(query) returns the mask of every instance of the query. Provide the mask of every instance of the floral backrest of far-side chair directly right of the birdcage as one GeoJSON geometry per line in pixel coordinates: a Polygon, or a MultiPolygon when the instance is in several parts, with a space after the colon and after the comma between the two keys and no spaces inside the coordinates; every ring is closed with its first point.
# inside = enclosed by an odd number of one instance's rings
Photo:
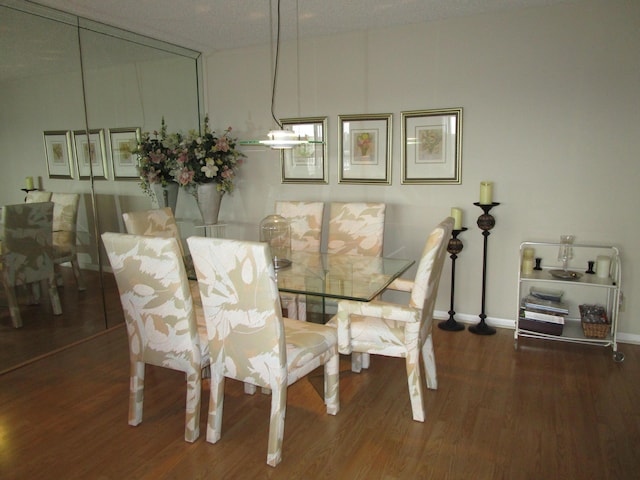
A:
{"type": "Polygon", "coordinates": [[[320,251],[324,202],[277,201],[276,213],[289,221],[291,250],[320,251]]]}

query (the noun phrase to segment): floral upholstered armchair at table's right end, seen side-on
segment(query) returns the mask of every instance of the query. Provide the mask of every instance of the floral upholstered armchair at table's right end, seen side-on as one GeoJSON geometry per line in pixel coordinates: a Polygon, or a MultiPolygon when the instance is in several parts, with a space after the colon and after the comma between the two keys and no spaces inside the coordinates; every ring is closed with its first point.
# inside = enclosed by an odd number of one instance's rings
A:
{"type": "MultiPolygon", "coordinates": [[[[404,357],[413,419],[424,422],[420,354],[427,387],[438,388],[433,351],[433,309],[438,294],[453,218],[443,220],[429,235],[418,264],[415,280],[397,279],[392,289],[408,292],[408,305],[372,301],[340,300],[338,314],[330,321],[338,328],[340,353],[366,352],[404,357]]],[[[360,365],[352,367],[360,371],[360,365]]]]}

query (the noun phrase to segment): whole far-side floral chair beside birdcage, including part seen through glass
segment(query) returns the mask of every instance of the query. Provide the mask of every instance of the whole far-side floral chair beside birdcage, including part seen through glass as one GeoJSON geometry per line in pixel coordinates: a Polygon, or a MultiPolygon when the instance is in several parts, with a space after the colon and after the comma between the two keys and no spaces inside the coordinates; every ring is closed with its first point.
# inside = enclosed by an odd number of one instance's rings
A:
{"type": "MultiPolygon", "coordinates": [[[[291,250],[317,253],[322,240],[324,202],[276,202],[276,213],[289,220],[291,250]]],[[[280,302],[287,309],[287,317],[307,319],[307,302],[304,295],[281,293],[280,302]]]]}

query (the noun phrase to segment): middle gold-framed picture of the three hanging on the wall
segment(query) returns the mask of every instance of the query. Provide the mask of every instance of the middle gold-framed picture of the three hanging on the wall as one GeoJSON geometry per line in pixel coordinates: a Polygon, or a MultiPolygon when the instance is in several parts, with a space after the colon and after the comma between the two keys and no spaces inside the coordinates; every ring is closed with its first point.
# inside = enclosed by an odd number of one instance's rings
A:
{"type": "Polygon", "coordinates": [[[392,114],[339,115],[338,183],[391,184],[392,114]]]}

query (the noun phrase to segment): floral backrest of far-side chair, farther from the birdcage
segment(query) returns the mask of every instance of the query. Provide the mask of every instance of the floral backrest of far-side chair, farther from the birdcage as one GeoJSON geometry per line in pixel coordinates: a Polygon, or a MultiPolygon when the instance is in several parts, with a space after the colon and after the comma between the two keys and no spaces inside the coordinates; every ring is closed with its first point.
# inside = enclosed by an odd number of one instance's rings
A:
{"type": "Polygon", "coordinates": [[[384,203],[333,202],[327,251],[382,256],[385,210],[384,203]]]}

